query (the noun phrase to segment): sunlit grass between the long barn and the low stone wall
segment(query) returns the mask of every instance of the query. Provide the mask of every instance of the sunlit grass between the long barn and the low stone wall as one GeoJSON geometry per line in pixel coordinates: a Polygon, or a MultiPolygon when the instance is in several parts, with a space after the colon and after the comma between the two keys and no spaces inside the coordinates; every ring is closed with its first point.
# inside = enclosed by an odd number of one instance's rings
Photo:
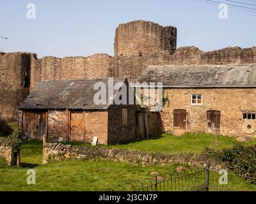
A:
{"type": "MultiPolygon", "coordinates": [[[[241,143],[236,138],[211,135],[207,133],[185,133],[182,136],[173,136],[164,133],[159,136],[148,138],[147,140],[137,140],[125,144],[109,145],[109,148],[140,150],[144,152],[163,152],[163,153],[200,153],[205,147],[214,149],[223,149],[233,147],[241,143]]],[[[252,145],[256,139],[250,142],[241,143],[243,145],[252,145]]],[[[86,146],[88,144],[70,142],[72,145],[86,146]]],[[[90,144],[89,144],[90,145],[90,144]]]]}

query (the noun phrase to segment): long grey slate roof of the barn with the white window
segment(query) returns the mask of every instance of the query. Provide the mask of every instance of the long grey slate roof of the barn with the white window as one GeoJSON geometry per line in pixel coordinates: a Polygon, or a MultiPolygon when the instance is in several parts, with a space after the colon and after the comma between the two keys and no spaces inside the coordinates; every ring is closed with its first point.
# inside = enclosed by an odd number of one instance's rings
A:
{"type": "Polygon", "coordinates": [[[149,66],[138,82],[164,87],[256,87],[256,64],[149,66]]]}

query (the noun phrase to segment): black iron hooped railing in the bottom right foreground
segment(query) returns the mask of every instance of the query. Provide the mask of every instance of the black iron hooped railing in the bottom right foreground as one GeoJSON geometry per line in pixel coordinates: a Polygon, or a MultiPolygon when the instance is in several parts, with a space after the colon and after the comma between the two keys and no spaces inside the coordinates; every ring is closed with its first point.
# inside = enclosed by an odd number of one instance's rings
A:
{"type": "Polygon", "coordinates": [[[256,191],[256,178],[212,170],[207,165],[197,170],[182,170],[171,175],[154,175],[105,191],[256,191]]]}

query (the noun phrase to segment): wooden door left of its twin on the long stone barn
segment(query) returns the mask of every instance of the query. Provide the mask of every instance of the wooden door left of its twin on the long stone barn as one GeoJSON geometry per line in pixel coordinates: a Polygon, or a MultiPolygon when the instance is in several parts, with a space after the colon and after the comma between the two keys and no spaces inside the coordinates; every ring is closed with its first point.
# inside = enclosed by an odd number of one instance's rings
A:
{"type": "Polygon", "coordinates": [[[173,112],[173,129],[174,133],[181,135],[186,132],[186,110],[174,110],[173,112]]]}

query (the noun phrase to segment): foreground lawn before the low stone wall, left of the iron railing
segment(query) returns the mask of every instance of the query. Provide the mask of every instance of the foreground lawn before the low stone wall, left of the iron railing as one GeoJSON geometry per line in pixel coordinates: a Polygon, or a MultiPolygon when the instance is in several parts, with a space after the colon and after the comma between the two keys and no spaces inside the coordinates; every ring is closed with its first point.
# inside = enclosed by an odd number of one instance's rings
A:
{"type": "Polygon", "coordinates": [[[24,141],[20,158],[20,168],[10,168],[0,160],[0,191],[100,191],[152,177],[152,171],[175,173],[179,166],[142,166],[99,159],[42,164],[40,141],[24,141]],[[30,168],[36,171],[35,186],[26,183],[30,168]]]}

